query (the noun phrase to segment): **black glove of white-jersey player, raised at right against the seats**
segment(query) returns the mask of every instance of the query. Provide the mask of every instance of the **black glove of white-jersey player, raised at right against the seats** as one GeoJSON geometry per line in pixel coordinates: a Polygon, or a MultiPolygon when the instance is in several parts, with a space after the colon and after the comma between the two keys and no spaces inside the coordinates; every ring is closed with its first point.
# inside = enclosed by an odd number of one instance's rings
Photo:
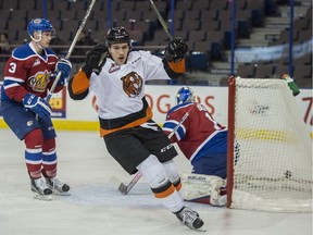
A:
{"type": "Polygon", "coordinates": [[[170,41],[170,44],[165,48],[164,57],[168,62],[178,62],[183,60],[187,51],[187,44],[184,42],[181,38],[177,37],[174,40],[170,41]]]}

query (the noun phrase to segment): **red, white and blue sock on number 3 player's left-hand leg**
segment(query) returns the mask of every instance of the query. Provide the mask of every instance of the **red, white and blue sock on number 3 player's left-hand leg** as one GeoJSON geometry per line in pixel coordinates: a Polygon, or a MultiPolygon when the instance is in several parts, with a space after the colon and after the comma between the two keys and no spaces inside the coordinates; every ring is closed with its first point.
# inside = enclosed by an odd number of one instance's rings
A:
{"type": "Polygon", "coordinates": [[[42,165],[42,134],[39,128],[33,129],[24,137],[26,146],[25,162],[30,177],[41,176],[42,165]]]}

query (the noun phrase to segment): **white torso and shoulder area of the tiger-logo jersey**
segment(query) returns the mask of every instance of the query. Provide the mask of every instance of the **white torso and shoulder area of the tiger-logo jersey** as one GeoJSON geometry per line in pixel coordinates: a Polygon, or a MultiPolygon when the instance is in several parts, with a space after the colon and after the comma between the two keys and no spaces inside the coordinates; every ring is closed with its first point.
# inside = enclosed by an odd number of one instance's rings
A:
{"type": "Polygon", "coordinates": [[[108,58],[100,74],[90,76],[89,91],[97,97],[98,115],[109,120],[139,112],[143,108],[145,83],[152,79],[171,77],[162,59],[148,51],[130,51],[123,65],[108,58]]]}

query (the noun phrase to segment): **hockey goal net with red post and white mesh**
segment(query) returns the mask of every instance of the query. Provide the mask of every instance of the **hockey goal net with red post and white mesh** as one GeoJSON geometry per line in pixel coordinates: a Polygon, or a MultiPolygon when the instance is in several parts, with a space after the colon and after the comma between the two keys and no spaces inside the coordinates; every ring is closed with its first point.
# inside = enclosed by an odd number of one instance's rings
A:
{"type": "Polygon", "coordinates": [[[283,79],[229,78],[227,206],[312,211],[312,140],[283,79]]]}

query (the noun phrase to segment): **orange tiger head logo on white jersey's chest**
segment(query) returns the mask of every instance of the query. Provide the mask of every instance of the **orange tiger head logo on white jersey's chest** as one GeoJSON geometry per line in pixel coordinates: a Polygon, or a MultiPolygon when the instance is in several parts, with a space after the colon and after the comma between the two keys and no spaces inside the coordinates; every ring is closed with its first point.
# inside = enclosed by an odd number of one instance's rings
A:
{"type": "Polygon", "coordinates": [[[139,96],[142,89],[142,78],[136,72],[130,72],[121,79],[123,81],[123,89],[129,98],[139,96]]]}

